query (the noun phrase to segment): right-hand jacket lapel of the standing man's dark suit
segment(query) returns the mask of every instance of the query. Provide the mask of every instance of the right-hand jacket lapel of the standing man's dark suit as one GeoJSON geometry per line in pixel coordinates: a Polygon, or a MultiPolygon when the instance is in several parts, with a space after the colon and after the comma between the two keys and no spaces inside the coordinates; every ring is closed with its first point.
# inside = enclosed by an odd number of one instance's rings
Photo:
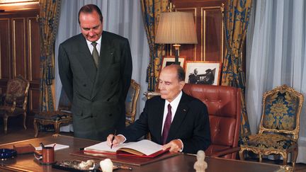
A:
{"type": "Polygon", "coordinates": [[[103,85],[106,76],[108,75],[108,69],[111,67],[114,49],[110,45],[111,42],[108,40],[108,37],[102,34],[98,72],[96,75],[96,82],[94,84],[94,91],[91,96],[92,98],[96,96],[99,89],[102,87],[101,85],[103,85]]]}

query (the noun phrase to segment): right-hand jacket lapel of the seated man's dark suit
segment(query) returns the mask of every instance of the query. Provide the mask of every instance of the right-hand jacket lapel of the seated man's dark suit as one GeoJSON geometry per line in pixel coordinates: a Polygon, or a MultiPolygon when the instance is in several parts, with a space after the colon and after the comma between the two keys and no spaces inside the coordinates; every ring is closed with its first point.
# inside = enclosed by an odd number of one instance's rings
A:
{"type": "Polygon", "coordinates": [[[176,132],[181,127],[181,123],[186,117],[188,112],[188,101],[186,99],[185,93],[183,93],[181,97],[181,101],[179,103],[178,108],[176,109],[176,113],[174,115],[174,120],[171,122],[171,127],[169,130],[167,142],[170,142],[176,136],[176,132]]]}

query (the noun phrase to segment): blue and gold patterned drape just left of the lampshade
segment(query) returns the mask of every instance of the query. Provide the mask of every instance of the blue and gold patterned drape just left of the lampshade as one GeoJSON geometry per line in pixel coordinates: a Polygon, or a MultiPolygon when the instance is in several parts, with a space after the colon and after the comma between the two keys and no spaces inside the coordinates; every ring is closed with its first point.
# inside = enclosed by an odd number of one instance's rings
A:
{"type": "Polygon", "coordinates": [[[142,16],[145,23],[145,31],[147,33],[147,41],[149,43],[149,65],[147,67],[147,91],[155,91],[157,78],[162,55],[164,55],[164,45],[155,45],[155,33],[159,16],[166,11],[168,0],[140,0],[142,16]]]}

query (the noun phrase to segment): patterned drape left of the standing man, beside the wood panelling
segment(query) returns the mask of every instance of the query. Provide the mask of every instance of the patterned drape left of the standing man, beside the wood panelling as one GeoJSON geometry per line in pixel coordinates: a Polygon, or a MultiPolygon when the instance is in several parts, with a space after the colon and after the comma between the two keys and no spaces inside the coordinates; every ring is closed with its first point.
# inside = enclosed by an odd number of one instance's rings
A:
{"type": "Polygon", "coordinates": [[[61,0],[40,0],[40,111],[53,111],[54,43],[61,0]]]}

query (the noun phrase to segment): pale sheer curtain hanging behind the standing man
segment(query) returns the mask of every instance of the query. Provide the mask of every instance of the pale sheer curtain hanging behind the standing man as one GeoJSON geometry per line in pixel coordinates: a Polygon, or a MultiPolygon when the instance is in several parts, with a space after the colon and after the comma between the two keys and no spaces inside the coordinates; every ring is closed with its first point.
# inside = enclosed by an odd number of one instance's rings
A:
{"type": "MultiPolygon", "coordinates": [[[[149,64],[149,45],[142,20],[140,1],[130,0],[62,0],[59,30],[55,40],[55,98],[56,107],[60,98],[62,84],[58,75],[57,55],[60,43],[73,35],[81,33],[78,23],[78,12],[85,4],[96,4],[103,14],[103,30],[116,33],[130,42],[132,54],[132,79],[140,84],[140,94],[147,91],[146,69],[149,64]]],[[[145,107],[145,98],[139,98],[137,115],[145,107]]]]}

